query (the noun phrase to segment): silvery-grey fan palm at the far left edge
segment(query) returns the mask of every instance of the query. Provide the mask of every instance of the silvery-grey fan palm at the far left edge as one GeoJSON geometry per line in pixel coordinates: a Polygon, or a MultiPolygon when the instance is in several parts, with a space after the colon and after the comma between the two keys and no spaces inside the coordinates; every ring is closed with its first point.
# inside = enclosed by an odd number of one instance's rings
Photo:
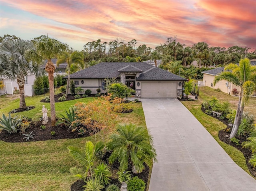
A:
{"type": "Polygon", "coordinates": [[[0,46],[0,76],[17,81],[20,91],[20,108],[26,108],[25,76],[34,74],[36,77],[44,74],[42,63],[36,55],[34,44],[28,40],[6,40],[0,46]]]}

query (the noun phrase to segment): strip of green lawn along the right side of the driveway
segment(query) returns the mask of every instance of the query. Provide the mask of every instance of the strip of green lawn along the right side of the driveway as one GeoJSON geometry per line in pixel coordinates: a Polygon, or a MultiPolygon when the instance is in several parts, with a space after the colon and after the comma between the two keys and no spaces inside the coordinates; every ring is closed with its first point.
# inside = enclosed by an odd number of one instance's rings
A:
{"type": "MultiPolygon", "coordinates": [[[[250,171],[246,165],[246,161],[242,152],[236,148],[227,145],[220,141],[218,138],[219,130],[226,128],[226,125],[220,122],[219,120],[208,116],[201,111],[201,104],[204,100],[209,100],[212,98],[212,95],[216,96],[218,100],[225,101],[228,100],[232,104],[232,108],[237,108],[238,97],[234,97],[223,92],[214,91],[210,87],[200,87],[200,96],[198,96],[197,101],[191,102],[182,102],[188,110],[197,118],[197,120],[208,130],[208,132],[213,136],[213,138],[220,144],[220,146],[226,151],[226,153],[234,160],[234,162],[244,169],[248,174],[250,171]]],[[[244,111],[249,111],[251,114],[256,116],[256,110],[252,109],[256,107],[256,98],[251,98],[248,106],[244,108],[244,111]]]]}

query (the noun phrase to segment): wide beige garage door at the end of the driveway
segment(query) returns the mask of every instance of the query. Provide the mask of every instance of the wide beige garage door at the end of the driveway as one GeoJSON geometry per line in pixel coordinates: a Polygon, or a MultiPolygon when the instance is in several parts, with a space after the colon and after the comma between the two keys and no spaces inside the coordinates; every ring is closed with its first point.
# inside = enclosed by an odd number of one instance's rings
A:
{"type": "Polygon", "coordinates": [[[176,98],[177,83],[141,83],[142,98],[176,98]]]}

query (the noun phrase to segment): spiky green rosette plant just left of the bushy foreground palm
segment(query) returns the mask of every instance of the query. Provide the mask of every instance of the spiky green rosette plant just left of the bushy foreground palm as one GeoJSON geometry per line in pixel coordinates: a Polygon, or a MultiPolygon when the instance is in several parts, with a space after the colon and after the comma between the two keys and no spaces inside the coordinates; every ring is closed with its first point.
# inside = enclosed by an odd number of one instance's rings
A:
{"type": "Polygon", "coordinates": [[[110,168],[108,165],[104,163],[100,163],[95,169],[94,169],[96,177],[100,179],[100,182],[103,185],[108,185],[110,184],[110,177],[111,177],[111,172],[110,168]]]}

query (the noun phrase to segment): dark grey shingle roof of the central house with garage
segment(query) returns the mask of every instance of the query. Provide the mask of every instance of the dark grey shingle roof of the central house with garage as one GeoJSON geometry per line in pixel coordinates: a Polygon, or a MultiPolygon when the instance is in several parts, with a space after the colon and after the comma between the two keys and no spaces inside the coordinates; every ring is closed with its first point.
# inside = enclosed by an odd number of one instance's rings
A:
{"type": "MultiPolygon", "coordinates": [[[[102,62],[70,75],[70,79],[76,78],[112,78],[120,77],[120,72],[126,70],[142,72],[138,80],[182,80],[186,79],[174,75],[168,71],[149,65],[145,62],[102,62]]],[[[64,77],[67,78],[67,77],[64,77]]]]}

